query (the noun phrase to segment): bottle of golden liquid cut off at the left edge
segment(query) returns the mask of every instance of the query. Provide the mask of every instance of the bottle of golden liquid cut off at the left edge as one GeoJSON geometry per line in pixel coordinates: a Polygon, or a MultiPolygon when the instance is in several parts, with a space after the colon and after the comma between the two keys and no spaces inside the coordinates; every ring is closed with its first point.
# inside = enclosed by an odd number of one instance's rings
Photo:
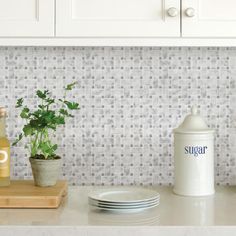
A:
{"type": "Polygon", "coordinates": [[[0,107],[0,187],[10,185],[10,142],[6,137],[6,109],[0,107]]]}

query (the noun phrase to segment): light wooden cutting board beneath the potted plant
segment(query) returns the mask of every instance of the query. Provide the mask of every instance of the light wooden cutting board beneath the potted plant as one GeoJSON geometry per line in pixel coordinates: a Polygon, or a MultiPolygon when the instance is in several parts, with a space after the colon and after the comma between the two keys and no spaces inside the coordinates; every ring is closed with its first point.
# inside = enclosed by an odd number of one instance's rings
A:
{"type": "Polygon", "coordinates": [[[0,208],[57,208],[67,194],[67,182],[37,187],[31,180],[13,180],[0,187],[0,208]]]}

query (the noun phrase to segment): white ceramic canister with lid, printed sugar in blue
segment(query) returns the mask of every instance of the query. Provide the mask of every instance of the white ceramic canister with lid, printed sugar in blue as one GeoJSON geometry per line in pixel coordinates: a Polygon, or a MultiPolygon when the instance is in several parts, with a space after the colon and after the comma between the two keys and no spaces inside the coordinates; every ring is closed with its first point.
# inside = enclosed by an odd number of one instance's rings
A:
{"type": "Polygon", "coordinates": [[[195,106],[174,129],[174,171],[174,193],[214,194],[214,130],[207,127],[195,106]]]}

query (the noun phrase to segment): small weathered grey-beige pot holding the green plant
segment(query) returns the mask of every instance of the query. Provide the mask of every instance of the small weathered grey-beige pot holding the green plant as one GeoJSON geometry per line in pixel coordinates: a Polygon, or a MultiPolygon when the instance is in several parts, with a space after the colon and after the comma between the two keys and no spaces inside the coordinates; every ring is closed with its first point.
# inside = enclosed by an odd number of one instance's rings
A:
{"type": "Polygon", "coordinates": [[[61,158],[55,160],[30,158],[29,160],[36,186],[48,187],[57,183],[61,169],[61,158]]]}

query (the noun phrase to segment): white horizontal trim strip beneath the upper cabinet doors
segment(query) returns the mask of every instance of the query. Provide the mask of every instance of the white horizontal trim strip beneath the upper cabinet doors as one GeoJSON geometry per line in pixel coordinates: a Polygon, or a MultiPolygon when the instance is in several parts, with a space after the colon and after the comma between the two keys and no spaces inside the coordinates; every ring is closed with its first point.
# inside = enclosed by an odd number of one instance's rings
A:
{"type": "Polygon", "coordinates": [[[0,38],[0,46],[236,47],[236,38],[0,38]]]}

